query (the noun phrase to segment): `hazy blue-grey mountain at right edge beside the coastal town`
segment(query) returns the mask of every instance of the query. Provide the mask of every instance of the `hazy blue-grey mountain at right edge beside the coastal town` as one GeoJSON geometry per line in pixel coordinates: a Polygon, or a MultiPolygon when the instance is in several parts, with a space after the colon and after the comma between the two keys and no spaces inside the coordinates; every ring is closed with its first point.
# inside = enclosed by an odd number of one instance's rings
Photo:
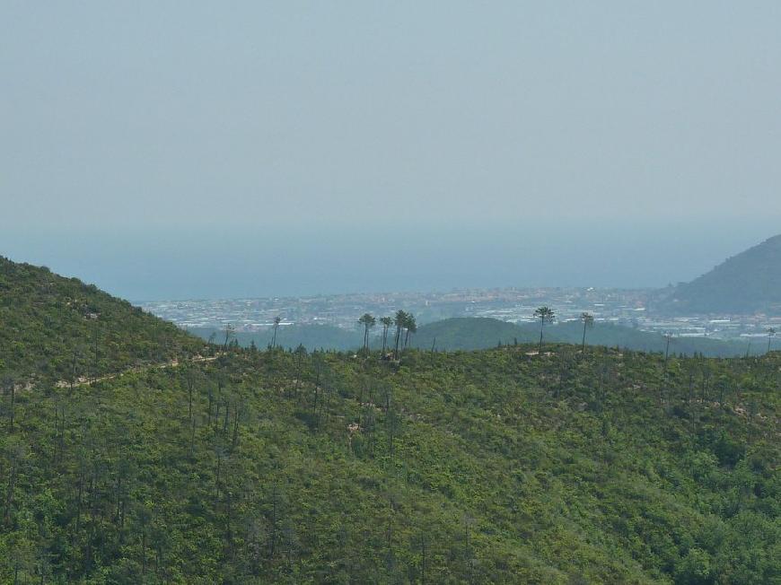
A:
{"type": "Polygon", "coordinates": [[[781,235],[663,292],[652,308],[679,314],[781,314],[781,235]]]}

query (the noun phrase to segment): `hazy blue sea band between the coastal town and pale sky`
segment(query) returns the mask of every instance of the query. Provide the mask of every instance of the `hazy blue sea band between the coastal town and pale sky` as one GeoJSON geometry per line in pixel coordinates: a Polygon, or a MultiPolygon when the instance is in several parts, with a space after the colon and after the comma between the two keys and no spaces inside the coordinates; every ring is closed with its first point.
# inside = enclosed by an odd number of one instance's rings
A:
{"type": "Polygon", "coordinates": [[[281,218],[263,229],[6,229],[14,260],[78,275],[134,301],[442,291],[454,287],[661,287],[774,235],[726,222],[632,225],[329,227],[281,218]]]}

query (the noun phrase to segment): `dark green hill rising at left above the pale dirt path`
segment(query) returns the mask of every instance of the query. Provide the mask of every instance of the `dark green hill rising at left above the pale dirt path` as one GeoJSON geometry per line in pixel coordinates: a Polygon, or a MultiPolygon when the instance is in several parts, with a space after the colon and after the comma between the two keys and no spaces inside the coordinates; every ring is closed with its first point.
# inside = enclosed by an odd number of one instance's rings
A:
{"type": "Polygon", "coordinates": [[[100,376],[202,346],[197,337],[91,284],[0,257],[0,375],[100,376]]]}

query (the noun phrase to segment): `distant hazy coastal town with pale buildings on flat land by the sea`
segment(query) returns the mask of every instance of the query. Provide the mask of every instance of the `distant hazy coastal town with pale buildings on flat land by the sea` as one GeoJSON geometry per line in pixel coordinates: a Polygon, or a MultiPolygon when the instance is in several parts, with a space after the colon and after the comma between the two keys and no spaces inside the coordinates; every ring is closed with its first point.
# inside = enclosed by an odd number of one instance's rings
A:
{"type": "Polygon", "coordinates": [[[183,328],[233,327],[256,332],[272,327],[330,325],[354,330],[364,312],[391,315],[409,310],[418,324],[451,317],[483,317],[511,323],[535,320],[541,305],[556,311],[557,320],[580,319],[590,313],[597,322],[634,327],[642,331],[680,337],[735,340],[768,336],[781,331],[781,316],[774,315],[664,315],[649,310],[654,289],[601,288],[494,288],[459,289],[443,293],[352,293],[266,299],[143,301],[147,312],[183,328]]]}

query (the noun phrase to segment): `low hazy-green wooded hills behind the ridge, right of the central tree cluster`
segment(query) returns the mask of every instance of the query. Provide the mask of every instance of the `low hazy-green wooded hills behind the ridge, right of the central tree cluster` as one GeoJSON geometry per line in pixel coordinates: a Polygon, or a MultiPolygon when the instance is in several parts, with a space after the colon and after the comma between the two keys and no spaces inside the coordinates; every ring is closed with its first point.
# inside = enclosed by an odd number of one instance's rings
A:
{"type": "MultiPolygon", "coordinates": [[[[540,339],[540,326],[536,324],[515,325],[498,319],[453,318],[418,327],[412,345],[420,349],[429,349],[434,344],[440,349],[473,350],[531,343],[540,339]]],[[[583,339],[583,325],[579,322],[553,323],[545,327],[545,339],[548,342],[562,342],[579,345],[583,339]]],[[[608,347],[626,347],[635,351],[663,352],[666,339],[659,334],[639,331],[631,327],[622,327],[610,323],[596,323],[586,332],[587,345],[606,345],[608,347]]],[[[675,354],[704,354],[711,357],[733,357],[746,353],[742,343],[724,342],[698,337],[675,337],[670,346],[675,354]]],[[[761,348],[755,347],[755,352],[761,348]]]]}

